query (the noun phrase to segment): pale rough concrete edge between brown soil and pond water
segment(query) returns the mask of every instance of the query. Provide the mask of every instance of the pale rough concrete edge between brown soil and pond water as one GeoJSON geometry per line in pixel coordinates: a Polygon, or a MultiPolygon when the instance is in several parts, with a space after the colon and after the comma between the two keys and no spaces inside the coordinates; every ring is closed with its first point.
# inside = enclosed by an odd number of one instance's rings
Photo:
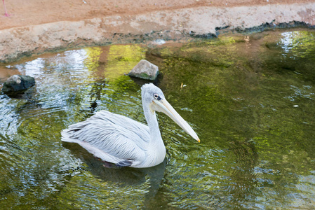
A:
{"type": "Polygon", "coordinates": [[[213,37],[222,29],[261,30],[264,27],[315,26],[315,2],[286,5],[198,7],[113,15],[78,22],[62,21],[0,31],[0,62],[43,52],[86,45],[128,43],[187,36],[213,37]]]}

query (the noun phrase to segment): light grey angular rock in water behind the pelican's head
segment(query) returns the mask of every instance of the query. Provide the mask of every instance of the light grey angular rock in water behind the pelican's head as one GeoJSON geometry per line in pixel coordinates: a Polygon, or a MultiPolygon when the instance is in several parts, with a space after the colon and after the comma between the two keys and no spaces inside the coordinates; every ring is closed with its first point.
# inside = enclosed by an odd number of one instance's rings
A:
{"type": "Polygon", "coordinates": [[[159,67],[145,59],[140,60],[128,73],[128,76],[143,78],[145,80],[155,80],[159,74],[159,67]]]}

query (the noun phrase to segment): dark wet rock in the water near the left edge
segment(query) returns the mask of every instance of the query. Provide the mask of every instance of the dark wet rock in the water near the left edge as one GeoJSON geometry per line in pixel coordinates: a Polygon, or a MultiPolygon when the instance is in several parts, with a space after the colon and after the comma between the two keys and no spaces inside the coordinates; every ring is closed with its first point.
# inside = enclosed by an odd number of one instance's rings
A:
{"type": "Polygon", "coordinates": [[[13,75],[6,80],[2,91],[6,94],[18,94],[25,92],[33,85],[35,85],[35,79],[32,76],[13,75]]]}

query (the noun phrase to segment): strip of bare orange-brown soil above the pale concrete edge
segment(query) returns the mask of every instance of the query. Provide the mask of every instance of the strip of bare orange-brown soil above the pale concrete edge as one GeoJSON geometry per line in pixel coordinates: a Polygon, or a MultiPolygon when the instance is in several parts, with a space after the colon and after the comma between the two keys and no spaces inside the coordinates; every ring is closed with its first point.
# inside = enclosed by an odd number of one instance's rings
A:
{"type": "Polygon", "coordinates": [[[0,3],[0,30],[62,20],[78,21],[109,15],[136,15],[156,10],[307,2],[314,2],[314,0],[5,0],[9,17],[4,16],[4,6],[0,3]]]}

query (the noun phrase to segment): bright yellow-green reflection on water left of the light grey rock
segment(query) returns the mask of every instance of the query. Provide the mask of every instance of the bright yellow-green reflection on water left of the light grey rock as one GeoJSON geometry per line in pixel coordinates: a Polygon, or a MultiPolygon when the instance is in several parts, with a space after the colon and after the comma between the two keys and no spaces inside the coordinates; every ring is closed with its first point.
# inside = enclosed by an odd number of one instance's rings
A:
{"type": "MultiPolygon", "coordinates": [[[[95,72],[93,76],[100,76],[99,72],[103,73],[98,81],[91,84],[92,111],[98,106],[102,97],[119,102],[120,94],[126,94],[126,90],[133,85],[130,83],[131,80],[123,74],[128,73],[145,55],[144,49],[139,45],[110,45],[106,49],[102,51],[101,48],[86,48],[88,53],[85,64],[88,70],[95,72]],[[107,89],[107,83],[112,90],[107,89]]],[[[109,103],[108,106],[111,106],[110,104],[113,103],[109,103]]]]}

